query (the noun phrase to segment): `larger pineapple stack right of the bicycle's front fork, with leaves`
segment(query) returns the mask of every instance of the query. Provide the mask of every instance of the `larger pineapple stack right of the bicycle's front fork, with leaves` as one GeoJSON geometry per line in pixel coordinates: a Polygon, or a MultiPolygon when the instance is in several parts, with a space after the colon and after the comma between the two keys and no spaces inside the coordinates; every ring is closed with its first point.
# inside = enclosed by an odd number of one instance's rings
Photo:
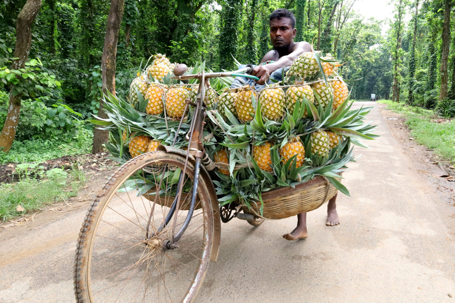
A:
{"type": "Polygon", "coordinates": [[[261,193],[326,176],[337,178],[353,161],[350,144],[365,146],[374,126],[363,122],[369,109],[350,110],[349,89],[332,55],[307,52],[283,73],[283,81],[261,91],[227,89],[209,112],[222,142],[214,153],[223,182],[222,204],[241,199],[251,205],[261,193]],[[224,165],[223,165],[224,164],[224,165]]]}

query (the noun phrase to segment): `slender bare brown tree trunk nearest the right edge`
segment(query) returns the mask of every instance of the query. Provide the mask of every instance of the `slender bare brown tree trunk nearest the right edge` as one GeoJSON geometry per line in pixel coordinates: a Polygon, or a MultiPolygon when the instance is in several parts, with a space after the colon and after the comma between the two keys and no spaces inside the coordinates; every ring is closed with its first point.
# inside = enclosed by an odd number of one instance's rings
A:
{"type": "Polygon", "coordinates": [[[445,0],[444,7],[444,24],[442,25],[442,54],[441,54],[441,88],[439,91],[439,100],[447,98],[448,75],[447,61],[449,59],[450,44],[450,3],[451,0],[445,0]]]}

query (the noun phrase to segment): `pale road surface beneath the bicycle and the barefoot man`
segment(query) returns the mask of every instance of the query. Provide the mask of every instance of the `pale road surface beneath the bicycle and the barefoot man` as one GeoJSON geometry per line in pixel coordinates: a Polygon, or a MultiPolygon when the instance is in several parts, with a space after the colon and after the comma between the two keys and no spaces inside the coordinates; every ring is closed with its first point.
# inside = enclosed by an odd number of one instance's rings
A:
{"type": "MultiPolygon", "coordinates": [[[[354,107],[362,104],[373,103],[354,107]]],[[[341,224],[325,226],[325,206],[308,214],[306,240],[281,237],[295,218],[258,228],[238,219],[223,224],[218,261],[197,303],[455,302],[455,209],[392,135],[383,105],[373,105],[368,117],[381,137],[367,142],[372,149],[355,150],[363,155],[344,174],[351,197],[337,201],[341,224]]],[[[73,259],[85,213],[0,231],[1,303],[75,301],[73,259]]]]}

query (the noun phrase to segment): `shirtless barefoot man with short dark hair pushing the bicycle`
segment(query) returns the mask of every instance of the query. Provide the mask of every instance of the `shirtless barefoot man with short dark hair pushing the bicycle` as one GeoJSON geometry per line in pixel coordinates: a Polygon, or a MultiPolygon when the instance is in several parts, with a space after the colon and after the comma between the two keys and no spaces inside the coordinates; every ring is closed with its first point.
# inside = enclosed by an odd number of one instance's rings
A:
{"type": "MultiPolygon", "coordinates": [[[[260,78],[256,81],[259,85],[267,83],[273,71],[291,65],[298,55],[312,50],[308,42],[294,42],[294,37],[297,33],[295,16],[289,10],[278,9],[273,11],[269,18],[269,25],[273,50],[265,54],[261,63],[269,60],[275,62],[267,65],[258,65],[254,68],[252,75],[260,78]]],[[[335,204],[336,198],[337,195],[330,199],[327,205],[327,222],[325,223],[327,226],[334,226],[340,223],[335,204]]],[[[308,238],[307,213],[297,215],[297,227],[292,232],[284,234],[283,238],[287,240],[308,238]]]]}

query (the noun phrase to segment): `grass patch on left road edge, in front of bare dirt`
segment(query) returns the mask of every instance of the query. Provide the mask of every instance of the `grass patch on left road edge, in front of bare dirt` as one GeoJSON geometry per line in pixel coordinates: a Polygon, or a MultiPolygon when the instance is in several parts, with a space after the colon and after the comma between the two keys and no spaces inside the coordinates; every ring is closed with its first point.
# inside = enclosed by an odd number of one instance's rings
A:
{"type": "Polygon", "coordinates": [[[79,188],[86,184],[86,175],[77,165],[70,174],[63,169],[47,172],[40,172],[39,169],[25,168],[18,172],[23,178],[19,182],[0,184],[0,222],[77,196],[79,188]],[[39,175],[45,179],[31,178],[30,175],[39,175]]]}

